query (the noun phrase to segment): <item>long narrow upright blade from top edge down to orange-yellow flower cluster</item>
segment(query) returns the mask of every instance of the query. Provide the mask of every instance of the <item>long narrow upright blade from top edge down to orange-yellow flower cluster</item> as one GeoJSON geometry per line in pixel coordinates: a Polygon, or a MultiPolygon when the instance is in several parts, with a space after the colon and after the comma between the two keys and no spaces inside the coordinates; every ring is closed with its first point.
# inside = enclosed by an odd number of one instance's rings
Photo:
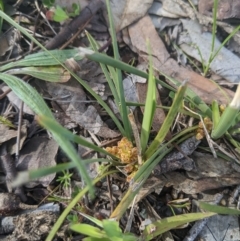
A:
{"type": "MultiPolygon", "coordinates": [[[[112,38],[114,59],[120,60],[120,55],[119,55],[118,46],[117,46],[117,37],[116,37],[116,32],[115,32],[115,29],[114,29],[114,23],[113,23],[113,17],[112,17],[112,9],[111,9],[109,0],[106,0],[106,5],[107,5],[109,25],[110,25],[110,35],[111,35],[111,38],[112,38]]],[[[120,114],[121,114],[121,117],[122,117],[124,130],[126,132],[126,137],[129,140],[131,140],[132,139],[131,138],[132,131],[131,131],[131,125],[130,125],[129,120],[128,120],[129,110],[128,110],[128,107],[127,107],[126,101],[125,101],[122,72],[121,72],[121,69],[119,69],[119,68],[116,68],[115,71],[116,71],[115,83],[117,84],[117,89],[119,91],[118,96],[119,96],[119,99],[120,99],[119,110],[120,110],[120,114]]]]}

